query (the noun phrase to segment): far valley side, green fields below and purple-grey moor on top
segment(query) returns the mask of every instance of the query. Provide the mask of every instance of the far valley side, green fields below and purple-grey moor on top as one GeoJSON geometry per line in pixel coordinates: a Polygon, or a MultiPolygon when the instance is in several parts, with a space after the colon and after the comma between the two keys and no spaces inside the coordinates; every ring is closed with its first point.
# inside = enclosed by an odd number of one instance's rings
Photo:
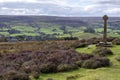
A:
{"type": "MultiPolygon", "coordinates": [[[[120,18],[108,20],[108,36],[120,37],[120,18]]],[[[57,16],[0,16],[0,35],[8,41],[49,40],[64,37],[79,39],[101,37],[103,20],[101,17],[57,17],[57,16]],[[92,28],[95,33],[84,32],[92,28]],[[90,37],[89,37],[90,36],[90,37]]]]}

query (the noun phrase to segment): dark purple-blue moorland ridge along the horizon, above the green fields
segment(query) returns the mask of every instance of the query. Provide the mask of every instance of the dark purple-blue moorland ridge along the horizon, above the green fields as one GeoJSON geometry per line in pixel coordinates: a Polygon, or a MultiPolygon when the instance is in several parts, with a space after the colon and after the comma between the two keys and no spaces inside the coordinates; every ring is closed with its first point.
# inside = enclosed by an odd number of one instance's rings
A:
{"type": "MultiPolygon", "coordinates": [[[[28,25],[37,24],[39,22],[54,23],[59,25],[69,25],[69,26],[86,26],[90,24],[102,22],[101,17],[57,17],[57,16],[0,16],[0,24],[8,23],[10,25],[15,25],[19,23],[26,23],[28,25]],[[14,23],[14,24],[13,24],[14,23]]],[[[118,22],[120,17],[110,17],[109,22],[118,22]]],[[[114,23],[111,23],[112,25],[114,23]]],[[[7,25],[7,24],[5,24],[7,25]]],[[[2,27],[2,26],[0,26],[2,27]]],[[[35,26],[37,27],[37,26],[35,26]]]]}

